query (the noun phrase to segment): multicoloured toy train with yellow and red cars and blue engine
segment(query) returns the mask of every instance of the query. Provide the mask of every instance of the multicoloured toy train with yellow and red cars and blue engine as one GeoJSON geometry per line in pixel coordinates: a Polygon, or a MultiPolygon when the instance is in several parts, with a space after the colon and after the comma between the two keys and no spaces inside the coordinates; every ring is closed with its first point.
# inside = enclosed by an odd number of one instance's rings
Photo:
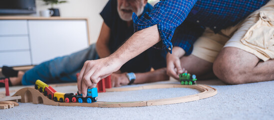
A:
{"type": "Polygon", "coordinates": [[[89,88],[87,89],[87,96],[83,97],[82,94],[79,92],[73,94],[73,93],[62,93],[57,92],[55,89],[53,89],[51,86],[47,85],[41,80],[36,80],[35,89],[38,89],[40,92],[43,92],[45,96],[48,96],[49,99],[53,99],[54,101],[60,101],[60,102],[96,102],[98,91],[97,88],[89,88]]]}

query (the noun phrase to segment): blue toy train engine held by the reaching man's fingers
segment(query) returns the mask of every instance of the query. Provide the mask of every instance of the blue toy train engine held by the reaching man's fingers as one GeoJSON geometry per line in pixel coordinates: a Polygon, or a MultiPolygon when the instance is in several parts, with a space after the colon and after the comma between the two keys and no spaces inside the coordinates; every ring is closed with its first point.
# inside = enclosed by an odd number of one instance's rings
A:
{"type": "Polygon", "coordinates": [[[77,92],[76,98],[77,98],[79,103],[82,103],[82,102],[91,103],[91,102],[96,102],[97,101],[97,96],[98,96],[97,88],[93,87],[93,88],[87,89],[86,97],[83,97],[82,94],[77,92]]]}

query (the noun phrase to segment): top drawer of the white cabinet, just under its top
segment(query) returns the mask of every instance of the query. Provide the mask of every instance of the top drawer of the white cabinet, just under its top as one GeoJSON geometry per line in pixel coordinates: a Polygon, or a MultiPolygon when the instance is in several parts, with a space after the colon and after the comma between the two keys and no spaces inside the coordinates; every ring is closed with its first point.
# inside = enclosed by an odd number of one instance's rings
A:
{"type": "Polygon", "coordinates": [[[27,34],[26,20],[0,20],[0,35],[27,34]]]}

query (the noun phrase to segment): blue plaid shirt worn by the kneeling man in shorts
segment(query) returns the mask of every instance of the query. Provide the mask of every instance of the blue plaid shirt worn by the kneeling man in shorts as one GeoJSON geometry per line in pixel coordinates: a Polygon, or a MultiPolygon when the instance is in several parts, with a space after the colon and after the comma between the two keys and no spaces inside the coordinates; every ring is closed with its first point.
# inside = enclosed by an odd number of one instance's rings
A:
{"type": "Polygon", "coordinates": [[[210,27],[219,32],[235,25],[269,0],[161,0],[140,18],[133,13],[135,32],[157,24],[162,41],[157,48],[172,52],[180,46],[191,54],[194,42],[210,27]],[[184,21],[184,22],[183,22],[184,21]]]}

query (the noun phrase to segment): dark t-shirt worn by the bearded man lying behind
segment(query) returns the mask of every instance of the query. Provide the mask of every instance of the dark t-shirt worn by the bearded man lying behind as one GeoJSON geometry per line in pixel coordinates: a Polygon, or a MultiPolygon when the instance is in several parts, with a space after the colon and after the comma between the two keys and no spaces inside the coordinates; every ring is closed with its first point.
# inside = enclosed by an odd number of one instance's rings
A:
{"type": "MultiPolygon", "coordinates": [[[[152,8],[147,3],[143,13],[150,12],[152,8]]],[[[117,0],[109,0],[100,15],[110,28],[108,47],[113,53],[134,33],[133,24],[128,27],[127,22],[120,18],[117,11],[117,0]]],[[[151,67],[154,69],[166,67],[166,53],[166,50],[151,47],[126,62],[120,70],[122,72],[146,72],[150,71],[151,67]]]]}

